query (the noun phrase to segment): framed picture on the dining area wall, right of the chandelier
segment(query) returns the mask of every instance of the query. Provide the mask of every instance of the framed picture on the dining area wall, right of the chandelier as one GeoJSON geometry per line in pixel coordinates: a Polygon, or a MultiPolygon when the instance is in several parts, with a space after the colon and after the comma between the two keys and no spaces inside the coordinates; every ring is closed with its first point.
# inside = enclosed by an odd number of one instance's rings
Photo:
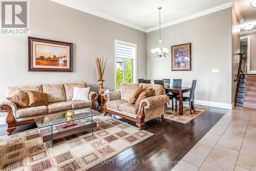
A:
{"type": "Polygon", "coordinates": [[[191,43],[172,46],[172,70],[191,70],[191,43]]]}

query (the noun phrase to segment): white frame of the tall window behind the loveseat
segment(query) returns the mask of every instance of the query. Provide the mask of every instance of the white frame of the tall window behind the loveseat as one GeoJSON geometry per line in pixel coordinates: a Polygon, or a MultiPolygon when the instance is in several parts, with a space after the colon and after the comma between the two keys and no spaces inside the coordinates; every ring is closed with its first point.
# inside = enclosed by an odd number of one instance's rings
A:
{"type": "MultiPolygon", "coordinates": [[[[116,57],[116,45],[118,43],[135,47],[135,59],[132,59],[135,61],[134,68],[133,68],[133,77],[132,77],[133,81],[132,82],[136,83],[136,80],[137,80],[137,44],[115,39],[115,52],[114,52],[115,53],[115,91],[117,90],[116,89],[116,61],[117,61],[116,60],[116,58],[117,58],[116,57]]],[[[123,59],[129,59],[129,58],[123,58],[123,59]]]]}

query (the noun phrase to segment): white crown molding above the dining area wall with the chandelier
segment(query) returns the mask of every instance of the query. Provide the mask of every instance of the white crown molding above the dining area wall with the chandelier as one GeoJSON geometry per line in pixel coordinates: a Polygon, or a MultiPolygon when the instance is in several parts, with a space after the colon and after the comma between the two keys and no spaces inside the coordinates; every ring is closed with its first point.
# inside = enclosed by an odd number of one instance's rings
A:
{"type": "MultiPolygon", "coordinates": [[[[204,11],[201,11],[201,12],[198,12],[198,13],[185,16],[183,18],[176,19],[174,21],[170,21],[170,22],[164,23],[164,24],[161,25],[161,29],[169,27],[169,26],[176,25],[177,23],[180,23],[180,22],[188,21],[190,19],[198,18],[198,17],[204,16],[204,15],[207,15],[207,14],[211,14],[211,13],[214,13],[214,12],[217,12],[217,11],[221,11],[221,10],[230,8],[230,7],[233,6],[233,4],[234,4],[234,2],[230,1],[228,3],[222,4],[222,5],[213,7],[213,8],[209,8],[207,10],[204,10],[204,11]]],[[[155,26],[153,28],[147,29],[146,32],[148,33],[148,32],[152,32],[152,31],[158,30],[158,29],[159,29],[159,26],[155,26]]]]}

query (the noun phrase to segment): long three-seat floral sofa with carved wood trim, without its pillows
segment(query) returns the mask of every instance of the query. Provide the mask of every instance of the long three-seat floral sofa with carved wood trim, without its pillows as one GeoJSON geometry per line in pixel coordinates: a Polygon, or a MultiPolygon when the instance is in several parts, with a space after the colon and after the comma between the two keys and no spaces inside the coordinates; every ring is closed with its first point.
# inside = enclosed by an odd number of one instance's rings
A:
{"type": "Polygon", "coordinates": [[[8,112],[6,116],[6,123],[8,125],[8,135],[16,129],[16,126],[34,123],[34,118],[43,117],[50,114],[57,114],[59,112],[71,109],[96,109],[95,99],[98,94],[91,91],[89,93],[89,101],[71,101],[73,97],[74,87],[87,87],[87,83],[67,83],[67,84],[43,84],[34,86],[16,86],[9,87],[6,90],[6,99],[0,100],[0,112],[8,112]],[[15,90],[19,88],[24,92],[28,90],[39,91],[47,93],[48,105],[36,106],[28,108],[17,108],[16,105],[7,100],[15,90]]]}

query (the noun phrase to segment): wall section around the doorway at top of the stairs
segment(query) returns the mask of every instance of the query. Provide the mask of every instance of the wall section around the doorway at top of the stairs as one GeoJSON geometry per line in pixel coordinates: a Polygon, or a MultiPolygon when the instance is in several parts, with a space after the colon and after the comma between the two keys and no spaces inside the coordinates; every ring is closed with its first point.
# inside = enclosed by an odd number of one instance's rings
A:
{"type": "Polygon", "coordinates": [[[241,35],[244,36],[250,36],[250,70],[256,71],[256,32],[241,35]]]}

